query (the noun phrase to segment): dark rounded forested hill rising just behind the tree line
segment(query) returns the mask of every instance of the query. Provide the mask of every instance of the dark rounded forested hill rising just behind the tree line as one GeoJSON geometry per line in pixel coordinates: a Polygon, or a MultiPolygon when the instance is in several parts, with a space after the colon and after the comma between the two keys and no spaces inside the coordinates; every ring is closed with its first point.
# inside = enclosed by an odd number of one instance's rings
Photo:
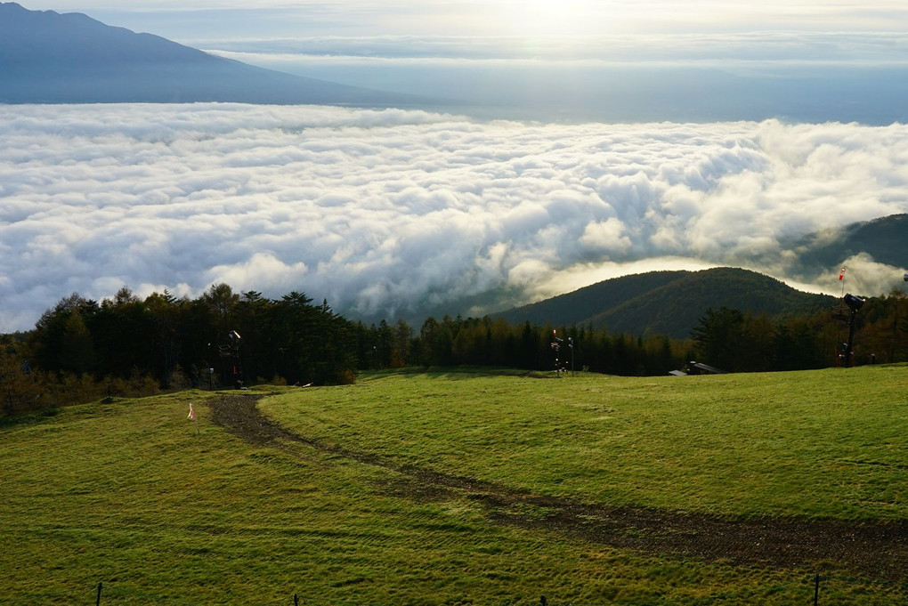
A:
{"type": "Polygon", "coordinates": [[[834,298],[735,268],[653,271],[608,279],[566,295],[496,314],[512,324],[607,327],[610,332],[685,338],[708,308],[783,317],[830,308],[834,298]]]}

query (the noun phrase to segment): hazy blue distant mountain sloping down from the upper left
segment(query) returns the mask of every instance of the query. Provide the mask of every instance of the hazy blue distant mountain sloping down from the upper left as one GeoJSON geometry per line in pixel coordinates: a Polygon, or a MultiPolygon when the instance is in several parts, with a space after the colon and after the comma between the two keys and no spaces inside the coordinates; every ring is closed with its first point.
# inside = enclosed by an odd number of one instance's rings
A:
{"type": "Polygon", "coordinates": [[[206,101],[406,107],[417,98],[253,67],[79,13],[0,4],[0,103],[206,101]]]}

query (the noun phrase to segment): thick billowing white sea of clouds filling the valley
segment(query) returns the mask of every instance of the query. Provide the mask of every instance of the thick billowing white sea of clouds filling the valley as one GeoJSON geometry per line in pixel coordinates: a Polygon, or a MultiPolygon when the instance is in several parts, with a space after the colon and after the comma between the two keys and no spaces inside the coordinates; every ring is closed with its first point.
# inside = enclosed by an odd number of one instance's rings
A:
{"type": "MultiPolygon", "coordinates": [[[[804,276],[780,242],[908,211],[903,124],[7,105],[0,137],[0,332],[124,285],[300,290],[389,319],[481,314],[649,269],[727,264],[834,289],[838,267],[804,276]],[[458,307],[470,300],[485,307],[458,307]]],[[[864,294],[901,281],[853,262],[864,294]]]]}

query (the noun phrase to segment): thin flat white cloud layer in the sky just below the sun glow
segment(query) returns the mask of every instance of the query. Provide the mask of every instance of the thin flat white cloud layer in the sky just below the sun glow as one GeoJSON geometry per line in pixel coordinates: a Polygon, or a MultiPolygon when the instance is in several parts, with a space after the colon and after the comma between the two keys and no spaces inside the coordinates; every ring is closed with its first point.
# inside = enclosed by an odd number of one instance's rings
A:
{"type": "MultiPolygon", "coordinates": [[[[203,34],[203,32],[200,32],[203,34]]],[[[590,64],[691,64],[758,70],[786,62],[849,65],[908,63],[901,32],[743,32],[723,34],[612,34],[552,36],[295,36],[205,39],[195,46],[240,60],[292,64],[333,60],[335,64],[434,61],[531,61],[590,64]]]]}

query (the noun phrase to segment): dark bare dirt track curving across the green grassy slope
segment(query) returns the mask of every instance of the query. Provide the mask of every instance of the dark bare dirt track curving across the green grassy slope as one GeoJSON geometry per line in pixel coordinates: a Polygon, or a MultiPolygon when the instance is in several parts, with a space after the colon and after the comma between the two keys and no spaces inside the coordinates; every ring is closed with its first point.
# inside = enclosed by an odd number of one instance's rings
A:
{"type": "Polygon", "coordinates": [[[574,503],[475,478],[401,466],[376,454],[340,445],[321,444],[262,415],[257,400],[256,396],[247,395],[212,400],[212,419],[254,445],[299,443],[388,469],[398,477],[385,489],[401,497],[425,501],[466,496],[480,503],[494,523],[562,533],[582,541],[657,555],[780,568],[834,562],[872,580],[908,581],[905,520],[857,523],[785,517],[736,519],[574,503]]]}

